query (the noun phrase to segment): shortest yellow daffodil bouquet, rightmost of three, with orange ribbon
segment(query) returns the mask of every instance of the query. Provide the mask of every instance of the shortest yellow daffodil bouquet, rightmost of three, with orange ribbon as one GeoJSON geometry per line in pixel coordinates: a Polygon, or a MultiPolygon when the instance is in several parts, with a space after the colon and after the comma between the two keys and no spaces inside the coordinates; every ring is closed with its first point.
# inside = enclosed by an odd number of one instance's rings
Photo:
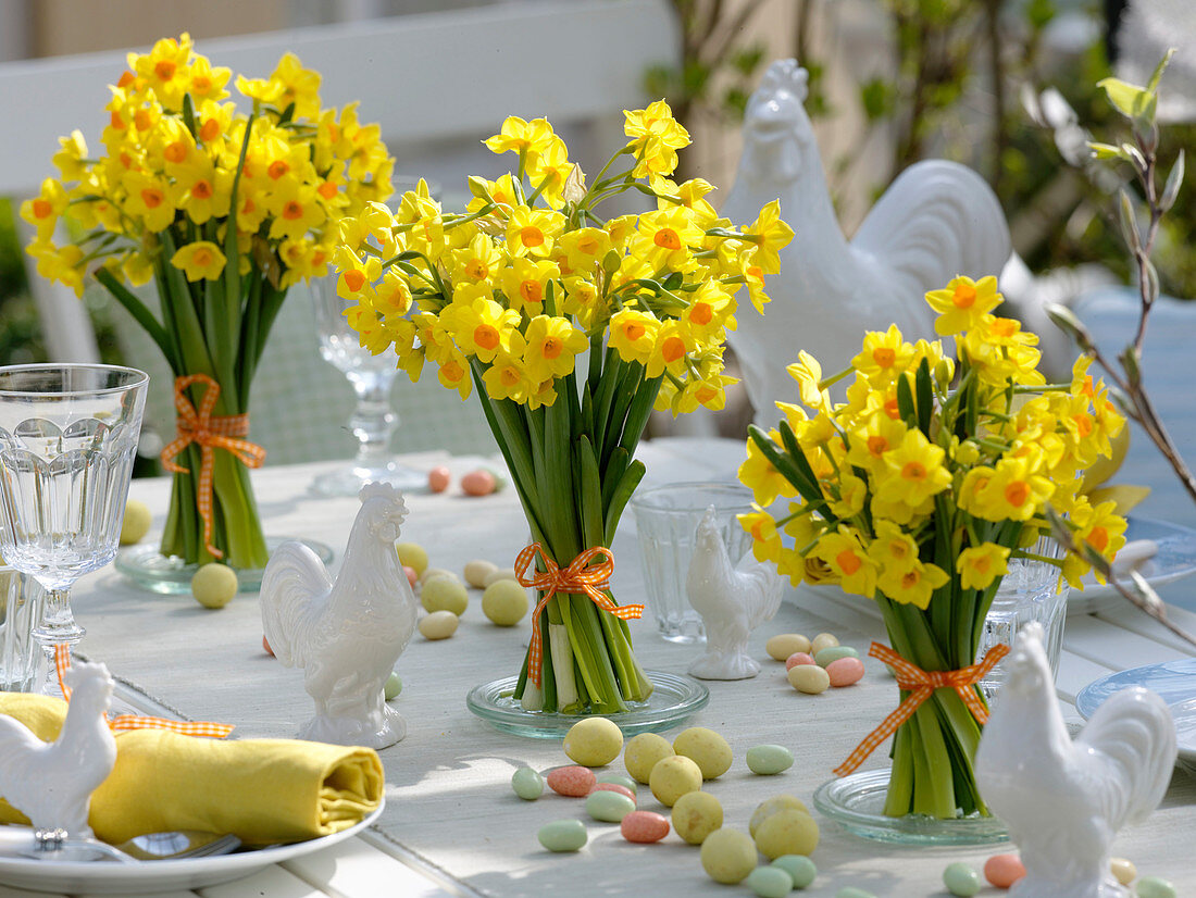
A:
{"type": "Polygon", "coordinates": [[[892,326],[867,334],[842,373],[824,378],[806,353],[789,366],[803,405],[781,404],[775,430],[751,428],[739,476],[758,509],[740,523],[756,557],[793,584],[875,600],[892,650],[919,668],[898,671],[903,707],[930,683],[911,716],[893,719],[885,813],[954,818],[987,814],[971,771],[984,671],[972,666],[997,586],[1011,558],[1055,564],[1079,586],[1090,558],[1036,551],[1050,534],[1048,506],[1086,551],[1111,560],[1124,544],[1115,503],[1093,506],[1080,490],[1124,420],[1088,375],[1088,356],[1069,384],[1044,381],[1037,336],[993,314],[996,279],[957,277],[926,299],[936,332],[954,337],[954,359],[940,341],[910,343],[892,326]],[[848,377],[846,402],[834,403],[828,389],[848,377]],[[764,511],[779,499],[782,513],[764,511]]]}

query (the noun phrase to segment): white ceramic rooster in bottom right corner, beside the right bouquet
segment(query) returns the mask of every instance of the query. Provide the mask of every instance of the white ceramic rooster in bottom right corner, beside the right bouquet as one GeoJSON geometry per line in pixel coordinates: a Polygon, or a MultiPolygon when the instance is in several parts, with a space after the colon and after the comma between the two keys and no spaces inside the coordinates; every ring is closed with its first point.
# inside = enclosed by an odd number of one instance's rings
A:
{"type": "Polygon", "coordinates": [[[976,751],[976,782],[1009,827],[1026,875],[1017,898],[1128,896],[1109,872],[1117,830],[1146,819],[1171,782],[1176,727],[1141,686],[1110,697],[1072,741],[1042,646],[1027,624],[976,751]]]}

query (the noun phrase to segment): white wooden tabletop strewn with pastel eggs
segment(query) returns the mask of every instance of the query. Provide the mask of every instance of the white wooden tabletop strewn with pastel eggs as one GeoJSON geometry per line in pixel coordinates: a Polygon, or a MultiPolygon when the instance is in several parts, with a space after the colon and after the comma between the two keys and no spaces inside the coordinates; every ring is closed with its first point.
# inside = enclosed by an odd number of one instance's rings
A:
{"type": "MultiPolygon", "coordinates": [[[[658,440],[642,447],[647,483],[733,477],[742,444],[712,440],[658,440]]],[[[446,457],[410,457],[431,466],[446,457]]],[[[464,459],[447,459],[457,475],[464,459]]],[[[268,533],[303,534],[343,548],[355,500],[316,499],[306,493],[327,465],[267,468],[254,481],[268,533]]],[[[138,481],[132,495],[150,503],[160,526],[167,482],[138,481]]],[[[423,544],[432,563],[459,570],[464,562],[489,558],[509,563],[526,539],[513,493],[466,499],[453,491],[408,497],[410,517],[402,538],[423,544]]],[[[630,513],[615,544],[616,595],[635,595],[641,580],[630,513]]],[[[335,567],[335,566],[334,566],[335,567]]],[[[726,811],[726,825],[746,830],[755,806],[779,793],[810,801],[817,786],[856,741],[887,713],[896,689],[880,665],[867,661],[858,686],[801,696],[792,690],[780,664],[767,660],[763,641],[773,633],[836,633],[861,649],[883,639],[879,619],[866,610],[808,591],[792,592],[777,617],[761,628],[753,650],[764,670],[752,680],[713,683],[709,705],[691,723],[721,732],[734,751],[724,777],[708,782],[726,811]],[[798,756],[794,768],[775,777],[746,770],[752,745],[781,743],[798,756]]],[[[624,598],[624,600],[627,600],[624,598]]],[[[657,845],[631,845],[617,826],[598,824],[580,801],[548,794],[523,802],[509,789],[509,776],[523,764],[537,769],[568,763],[560,745],[499,733],[465,708],[466,691],[482,682],[518,671],[526,628],[490,625],[472,593],[457,635],[445,642],[416,636],[397,670],[404,690],[395,707],[409,732],[382,752],[386,769],[388,810],[379,825],[342,845],[266,872],[201,890],[206,898],[301,898],[338,896],[539,896],[539,894],[684,894],[726,896],[701,869],[697,849],[676,835],[657,845]],[[553,855],[536,841],[549,820],[581,818],[590,843],[575,855],[553,855]]],[[[139,592],[112,570],[86,578],[75,592],[75,610],[87,636],[80,650],[104,660],[127,685],[126,695],[147,708],[153,701],[193,719],[225,720],[239,735],[289,737],[311,713],[300,674],[281,667],[261,649],[261,622],[254,595],[239,595],[220,611],[199,607],[188,595],[157,597],[139,592]],[[132,691],[130,691],[132,690],[132,691]]],[[[1177,618],[1196,629],[1196,615],[1177,618]]],[[[636,652],[646,667],[685,671],[697,649],[660,640],[649,622],[633,627],[636,652]]],[[[1088,682],[1113,670],[1194,654],[1129,607],[1096,617],[1070,618],[1058,691],[1064,704],[1088,682]]],[[[1074,714],[1074,711],[1073,711],[1074,714]]],[[[676,731],[673,731],[676,732],[676,731]]],[[[670,735],[671,734],[666,734],[670,735]]],[[[884,750],[865,768],[886,764],[884,750]]],[[[621,762],[614,769],[622,771],[621,762]]],[[[647,788],[640,807],[667,814],[647,788]]],[[[806,894],[834,896],[847,885],[877,896],[944,894],[942,868],[953,860],[980,867],[999,848],[901,849],[862,841],[823,821],[814,853],[819,878],[806,894]]],[[[1177,771],[1171,790],[1146,824],[1122,835],[1116,853],[1131,857],[1143,873],[1196,884],[1191,836],[1196,831],[1196,780],[1177,771]]],[[[1183,890],[1182,890],[1183,893],[1183,890]]],[[[0,898],[25,892],[0,887],[0,898]]],[[[29,893],[31,894],[31,893],[29,893]]],[[[183,892],[178,896],[196,893],[183,892]]]]}

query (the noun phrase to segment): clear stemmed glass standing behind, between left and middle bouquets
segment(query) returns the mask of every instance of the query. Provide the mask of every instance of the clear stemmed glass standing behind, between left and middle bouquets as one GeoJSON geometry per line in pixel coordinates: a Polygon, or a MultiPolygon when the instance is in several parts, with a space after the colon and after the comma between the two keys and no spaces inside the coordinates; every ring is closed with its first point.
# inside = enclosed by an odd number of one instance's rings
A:
{"type": "Polygon", "coordinates": [[[349,379],[358,396],[349,429],[358,438],[353,464],[317,477],[312,488],[325,496],[355,496],[370,482],[413,490],[427,484],[427,475],[399,464],[390,451],[398,415],[390,407],[396,367],[392,353],[373,355],[362,349],[344,310],[350,305],[336,295],[336,280],[312,281],[312,300],[319,332],[319,354],[349,379]]]}

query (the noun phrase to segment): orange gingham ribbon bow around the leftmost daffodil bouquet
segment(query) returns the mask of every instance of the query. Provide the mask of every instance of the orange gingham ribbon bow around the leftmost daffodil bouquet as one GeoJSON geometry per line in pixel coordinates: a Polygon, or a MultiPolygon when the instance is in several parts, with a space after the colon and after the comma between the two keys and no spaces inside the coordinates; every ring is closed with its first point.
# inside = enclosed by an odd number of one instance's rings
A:
{"type": "Polygon", "coordinates": [[[200,446],[200,489],[195,497],[200,507],[200,517],[203,518],[203,544],[208,552],[215,558],[224,557],[224,552],[212,545],[212,464],[213,450],[222,448],[232,452],[237,460],[246,468],[261,468],[266,460],[266,450],[250,442],[237,439],[249,433],[249,415],[213,415],[212,409],[216,407],[220,398],[220,384],[207,374],[188,374],[175,378],[175,410],[178,413],[178,436],[176,436],[166,448],[161,451],[161,463],[167,471],[187,474],[187,469],[175,462],[175,458],[190,444],[200,446]],[[200,399],[200,409],[196,411],[187,395],[183,392],[191,384],[203,384],[203,398],[200,399]]]}

